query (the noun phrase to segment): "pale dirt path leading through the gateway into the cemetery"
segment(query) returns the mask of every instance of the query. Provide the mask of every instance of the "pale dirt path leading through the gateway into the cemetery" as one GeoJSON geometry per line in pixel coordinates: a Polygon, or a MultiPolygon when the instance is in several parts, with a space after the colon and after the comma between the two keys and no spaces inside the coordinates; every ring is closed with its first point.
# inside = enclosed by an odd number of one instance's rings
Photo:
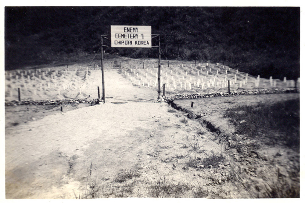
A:
{"type": "MultiPolygon", "coordinates": [[[[98,73],[94,77],[96,85],[98,73]]],[[[182,129],[181,114],[167,112],[165,103],[149,101],[156,92],[132,86],[115,71],[106,72],[105,78],[106,104],[5,129],[6,198],[74,198],[73,191],[85,190],[91,163],[98,180],[113,181],[121,170],[140,166],[146,166],[149,180],[168,173],[168,166],[158,168],[159,155],[156,159],[147,154],[172,142],[179,149],[179,140],[191,133],[182,129]],[[176,137],[167,143],[166,136],[172,134],[176,137]]],[[[192,129],[201,128],[193,125],[192,129]]]]}

